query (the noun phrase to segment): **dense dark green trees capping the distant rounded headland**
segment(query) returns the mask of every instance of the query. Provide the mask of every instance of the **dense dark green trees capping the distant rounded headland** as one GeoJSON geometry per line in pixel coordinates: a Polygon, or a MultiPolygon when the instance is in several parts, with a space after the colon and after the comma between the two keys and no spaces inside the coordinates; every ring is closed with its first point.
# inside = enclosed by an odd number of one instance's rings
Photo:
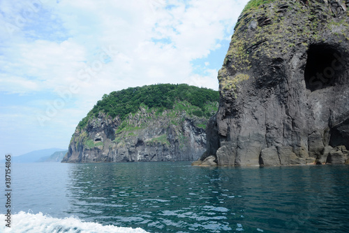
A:
{"type": "Polygon", "coordinates": [[[207,108],[207,103],[218,102],[218,100],[217,91],[186,84],[129,87],[104,94],[103,98],[80,121],[78,127],[84,128],[88,120],[97,117],[100,112],[106,113],[112,118],[119,117],[121,120],[125,120],[128,114],[136,113],[142,105],[149,109],[154,108],[161,113],[165,109],[178,108],[177,101],[186,101],[188,104],[198,107],[191,114],[209,118],[212,115],[212,109],[207,108]]]}

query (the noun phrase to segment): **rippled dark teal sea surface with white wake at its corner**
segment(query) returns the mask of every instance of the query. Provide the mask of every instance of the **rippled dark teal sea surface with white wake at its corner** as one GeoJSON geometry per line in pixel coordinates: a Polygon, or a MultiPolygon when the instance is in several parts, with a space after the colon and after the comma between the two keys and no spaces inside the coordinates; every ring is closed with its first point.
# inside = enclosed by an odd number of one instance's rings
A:
{"type": "MultiPolygon", "coordinates": [[[[0,165],[5,193],[5,165],[0,165]]],[[[13,164],[12,232],[349,232],[349,166],[13,164]]],[[[0,232],[5,226],[0,196],[0,232]]]]}

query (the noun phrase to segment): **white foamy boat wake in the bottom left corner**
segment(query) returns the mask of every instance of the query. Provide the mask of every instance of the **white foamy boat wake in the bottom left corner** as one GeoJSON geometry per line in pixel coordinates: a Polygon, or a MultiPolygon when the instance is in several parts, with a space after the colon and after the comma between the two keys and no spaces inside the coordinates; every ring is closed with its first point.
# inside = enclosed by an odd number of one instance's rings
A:
{"type": "Polygon", "coordinates": [[[43,213],[20,213],[11,216],[11,227],[6,227],[5,215],[0,216],[3,233],[147,233],[141,228],[115,227],[99,223],[82,222],[79,218],[52,218],[43,213]]]}

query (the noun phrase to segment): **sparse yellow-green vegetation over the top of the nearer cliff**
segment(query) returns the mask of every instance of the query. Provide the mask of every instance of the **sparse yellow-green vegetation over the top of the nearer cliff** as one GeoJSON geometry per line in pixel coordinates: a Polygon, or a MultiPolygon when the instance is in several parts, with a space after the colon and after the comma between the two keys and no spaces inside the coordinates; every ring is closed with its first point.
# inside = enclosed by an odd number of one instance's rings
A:
{"type": "Polygon", "coordinates": [[[328,43],[336,36],[349,41],[348,1],[248,1],[235,25],[230,48],[218,73],[220,91],[237,97],[241,83],[251,76],[255,64],[281,61],[296,50],[328,43]],[[292,23],[290,23],[292,22],[292,23]]]}

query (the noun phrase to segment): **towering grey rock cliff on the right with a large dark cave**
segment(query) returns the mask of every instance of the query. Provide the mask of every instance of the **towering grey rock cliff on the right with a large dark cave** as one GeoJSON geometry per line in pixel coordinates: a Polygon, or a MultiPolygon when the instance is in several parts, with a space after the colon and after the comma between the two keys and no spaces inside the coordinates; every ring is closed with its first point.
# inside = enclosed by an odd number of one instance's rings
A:
{"type": "Polygon", "coordinates": [[[248,3],[235,27],[200,160],[348,162],[349,1],[259,2],[248,3]]]}

